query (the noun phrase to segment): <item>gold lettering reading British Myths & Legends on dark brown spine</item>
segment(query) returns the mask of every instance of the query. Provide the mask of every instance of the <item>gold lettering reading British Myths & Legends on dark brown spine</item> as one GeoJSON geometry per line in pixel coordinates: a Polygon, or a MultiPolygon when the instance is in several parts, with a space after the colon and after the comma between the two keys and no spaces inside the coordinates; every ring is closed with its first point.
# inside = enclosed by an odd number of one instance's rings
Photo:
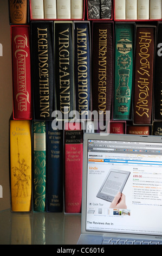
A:
{"type": "Polygon", "coordinates": [[[106,65],[107,65],[107,29],[99,29],[99,84],[98,108],[100,114],[106,113],[106,65]]]}

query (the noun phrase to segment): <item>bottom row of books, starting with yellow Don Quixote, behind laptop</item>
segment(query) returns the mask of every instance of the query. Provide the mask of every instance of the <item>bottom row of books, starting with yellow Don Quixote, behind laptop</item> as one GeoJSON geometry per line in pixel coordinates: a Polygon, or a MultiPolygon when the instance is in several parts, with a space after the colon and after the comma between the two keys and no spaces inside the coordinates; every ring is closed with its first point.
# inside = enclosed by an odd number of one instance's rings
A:
{"type": "MultiPolygon", "coordinates": [[[[74,123],[75,129],[72,129],[68,122],[59,130],[52,122],[10,119],[13,212],[81,212],[83,133],[86,130],[81,123],[74,123]]],[[[124,125],[112,121],[111,132],[125,133],[124,125]]],[[[162,126],[157,131],[162,131],[162,126]]],[[[150,127],[128,126],[127,132],[149,135],[150,127]]]]}

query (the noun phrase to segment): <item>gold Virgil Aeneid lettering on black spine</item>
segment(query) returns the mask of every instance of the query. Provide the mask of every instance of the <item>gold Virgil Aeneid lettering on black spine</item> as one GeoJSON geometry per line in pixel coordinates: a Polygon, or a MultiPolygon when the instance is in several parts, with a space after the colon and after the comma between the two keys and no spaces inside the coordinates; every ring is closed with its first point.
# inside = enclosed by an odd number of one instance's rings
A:
{"type": "Polygon", "coordinates": [[[70,112],[70,79],[69,70],[69,28],[59,33],[59,67],[60,67],[60,111],[63,114],[70,112]]]}

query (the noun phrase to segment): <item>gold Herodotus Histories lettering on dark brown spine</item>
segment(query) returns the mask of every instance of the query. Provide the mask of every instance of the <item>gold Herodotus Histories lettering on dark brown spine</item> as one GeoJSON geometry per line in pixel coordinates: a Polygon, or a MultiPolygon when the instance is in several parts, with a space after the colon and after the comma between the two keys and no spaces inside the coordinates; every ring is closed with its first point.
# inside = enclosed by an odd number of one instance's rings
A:
{"type": "Polygon", "coordinates": [[[150,65],[152,63],[149,62],[148,58],[150,57],[149,48],[151,44],[151,33],[140,32],[139,36],[139,46],[140,52],[138,53],[140,56],[140,67],[138,69],[138,73],[140,74],[138,81],[139,95],[137,102],[137,110],[135,111],[140,117],[146,115],[149,117],[149,80],[150,77],[150,65]]]}

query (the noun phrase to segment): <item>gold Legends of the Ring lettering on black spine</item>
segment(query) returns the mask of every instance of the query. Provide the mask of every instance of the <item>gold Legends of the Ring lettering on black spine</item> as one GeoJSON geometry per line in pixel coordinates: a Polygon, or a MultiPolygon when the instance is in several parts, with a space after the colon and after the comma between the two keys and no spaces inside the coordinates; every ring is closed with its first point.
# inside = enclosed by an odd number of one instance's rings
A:
{"type": "Polygon", "coordinates": [[[38,60],[40,86],[40,117],[49,117],[49,71],[48,71],[48,31],[47,28],[37,28],[38,60]]]}

